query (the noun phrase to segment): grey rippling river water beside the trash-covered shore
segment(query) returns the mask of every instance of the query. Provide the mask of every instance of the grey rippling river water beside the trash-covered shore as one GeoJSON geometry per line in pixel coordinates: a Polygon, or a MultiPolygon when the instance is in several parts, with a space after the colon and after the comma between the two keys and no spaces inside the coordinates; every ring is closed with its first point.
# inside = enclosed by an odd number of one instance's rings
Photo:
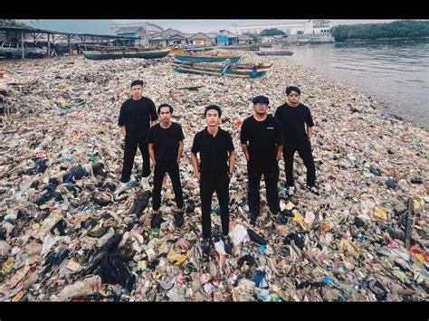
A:
{"type": "Polygon", "coordinates": [[[293,56],[275,59],[289,59],[357,87],[380,102],[387,114],[429,129],[429,41],[326,43],[288,49],[293,56]]]}

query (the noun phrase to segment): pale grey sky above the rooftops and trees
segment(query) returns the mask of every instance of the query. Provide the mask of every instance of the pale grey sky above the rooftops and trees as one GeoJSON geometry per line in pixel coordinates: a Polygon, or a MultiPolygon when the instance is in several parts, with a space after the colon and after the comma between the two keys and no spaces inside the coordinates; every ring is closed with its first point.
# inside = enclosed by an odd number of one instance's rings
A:
{"type": "MultiPolygon", "coordinates": [[[[338,20],[338,19],[329,19],[331,20],[332,26],[338,24],[379,24],[379,23],[390,23],[395,20],[338,20]]],[[[262,23],[280,23],[280,22],[298,22],[300,20],[249,20],[249,19],[176,19],[176,20],[166,20],[166,19],[157,19],[157,20],[114,20],[118,24],[128,24],[136,22],[148,22],[153,24],[158,24],[159,26],[167,29],[174,28],[183,33],[195,33],[195,32],[218,32],[221,29],[232,29],[232,24],[262,24],[262,23]]]]}

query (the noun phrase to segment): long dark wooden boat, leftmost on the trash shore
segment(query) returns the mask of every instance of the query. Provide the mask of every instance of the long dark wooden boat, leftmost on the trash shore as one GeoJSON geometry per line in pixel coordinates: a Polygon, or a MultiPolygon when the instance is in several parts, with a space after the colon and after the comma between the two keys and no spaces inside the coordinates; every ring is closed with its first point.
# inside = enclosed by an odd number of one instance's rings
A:
{"type": "Polygon", "coordinates": [[[121,50],[121,51],[100,51],[100,52],[84,52],[85,58],[93,61],[103,61],[108,59],[121,59],[121,58],[143,58],[143,59],[157,59],[167,56],[169,50],[121,50]]]}

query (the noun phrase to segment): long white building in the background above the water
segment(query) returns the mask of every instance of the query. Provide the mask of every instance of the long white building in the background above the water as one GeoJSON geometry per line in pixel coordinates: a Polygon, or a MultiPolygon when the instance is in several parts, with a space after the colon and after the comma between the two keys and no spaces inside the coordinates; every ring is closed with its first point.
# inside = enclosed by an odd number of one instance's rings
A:
{"type": "Polygon", "coordinates": [[[266,23],[266,24],[233,24],[233,33],[262,33],[265,29],[279,29],[292,34],[319,34],[329,33],[329,20],[301,20],[296,22],[266,23]]]}

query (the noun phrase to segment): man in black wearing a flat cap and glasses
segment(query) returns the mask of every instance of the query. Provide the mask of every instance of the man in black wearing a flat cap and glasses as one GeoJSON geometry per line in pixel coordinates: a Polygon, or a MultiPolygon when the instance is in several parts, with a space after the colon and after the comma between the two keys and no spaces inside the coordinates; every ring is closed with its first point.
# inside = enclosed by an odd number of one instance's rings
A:
{"type": "Polygon", "coordinates": [[[279,120],[268,114],[270,100],[265,96],[253,99],[254,115],[244,119],[240,133],[243,153],[247,160],[248,200],[251,224],[260,212],[260,183],[263,175],[267,203],[274,214],[280,212],[279,165],[283,137],[279,120]]]}

